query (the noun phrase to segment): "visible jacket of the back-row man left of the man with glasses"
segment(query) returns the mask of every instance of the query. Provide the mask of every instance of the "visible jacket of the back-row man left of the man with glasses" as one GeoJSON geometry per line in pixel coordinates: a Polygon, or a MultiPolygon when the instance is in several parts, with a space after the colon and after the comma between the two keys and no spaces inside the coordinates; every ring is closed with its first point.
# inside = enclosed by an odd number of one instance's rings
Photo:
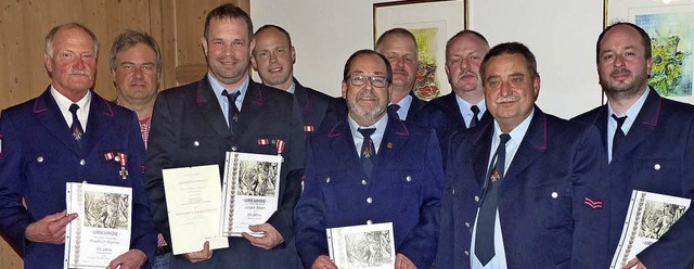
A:
{"type": "Polygon", "coordinates": [[[304,87],[294,78],[294,97],[301,110],[301,119],[304,120],[304,131],[308,134],[318,131],[321,121],[325,117],[325,111],[330,104],[332,97],[304,87]]]}

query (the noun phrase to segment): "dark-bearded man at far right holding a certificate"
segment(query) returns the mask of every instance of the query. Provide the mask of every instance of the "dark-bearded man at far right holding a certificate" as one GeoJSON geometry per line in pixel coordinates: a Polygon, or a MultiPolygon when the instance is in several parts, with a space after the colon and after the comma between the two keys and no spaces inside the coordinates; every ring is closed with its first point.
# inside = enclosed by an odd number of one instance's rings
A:
{"type": "MultiPolygon", "coordinates": [[[[631,23],[597,38],[596,63],[607,104],[573,120],[601,132],[609,181],[609,248],[615,253],[633,190],[694,198],[694,106],[663,98],[648,86],[651,37],[631,23]]],[[[694,209],[624,268],[692,268],[694,209]]]]}

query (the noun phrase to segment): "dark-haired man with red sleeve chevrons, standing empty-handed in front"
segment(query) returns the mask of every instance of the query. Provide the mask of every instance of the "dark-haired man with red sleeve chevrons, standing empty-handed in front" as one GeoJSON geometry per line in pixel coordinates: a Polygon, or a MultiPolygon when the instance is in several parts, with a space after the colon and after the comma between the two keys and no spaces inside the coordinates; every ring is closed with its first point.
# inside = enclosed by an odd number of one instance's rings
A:
{"type": "Polygon", "coordinates": [[[451,137],[437,268],[607,268],[605,157],[593,126],[535,105],[522,43],[480,63],[492,120],[451,137]]]}

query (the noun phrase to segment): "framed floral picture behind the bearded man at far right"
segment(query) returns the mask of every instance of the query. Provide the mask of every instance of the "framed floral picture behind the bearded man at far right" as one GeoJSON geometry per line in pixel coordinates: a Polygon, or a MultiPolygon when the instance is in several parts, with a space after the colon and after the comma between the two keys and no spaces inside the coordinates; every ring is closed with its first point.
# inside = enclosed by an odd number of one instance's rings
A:
{"type": "Polygon", "coordinates": [[[630,22],[651,36],[648,85],[663,97],[694,103],[694,2],[605,0],[605,26],[630,22]]]}

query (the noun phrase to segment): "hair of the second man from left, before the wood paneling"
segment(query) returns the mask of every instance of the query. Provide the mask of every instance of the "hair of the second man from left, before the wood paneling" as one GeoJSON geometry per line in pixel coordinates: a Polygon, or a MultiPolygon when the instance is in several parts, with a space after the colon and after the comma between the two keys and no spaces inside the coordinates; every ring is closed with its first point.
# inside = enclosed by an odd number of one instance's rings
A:
{"type": "Polygon", "coordinates": [[[146,44],[154,51],[156,71],[162,72],[162,50],[159,49],[159,44],[154,40],[152,36],[144,31],[137,30],[125,30],[123,34],[118,35],[115,40],[113,40],[113,44],[111,46],[111,69],[115,71],[118,67],[118,63],[116,62],[116,57],[118,53],[124,50],[130,49],[136,44],[146,44]]]}

